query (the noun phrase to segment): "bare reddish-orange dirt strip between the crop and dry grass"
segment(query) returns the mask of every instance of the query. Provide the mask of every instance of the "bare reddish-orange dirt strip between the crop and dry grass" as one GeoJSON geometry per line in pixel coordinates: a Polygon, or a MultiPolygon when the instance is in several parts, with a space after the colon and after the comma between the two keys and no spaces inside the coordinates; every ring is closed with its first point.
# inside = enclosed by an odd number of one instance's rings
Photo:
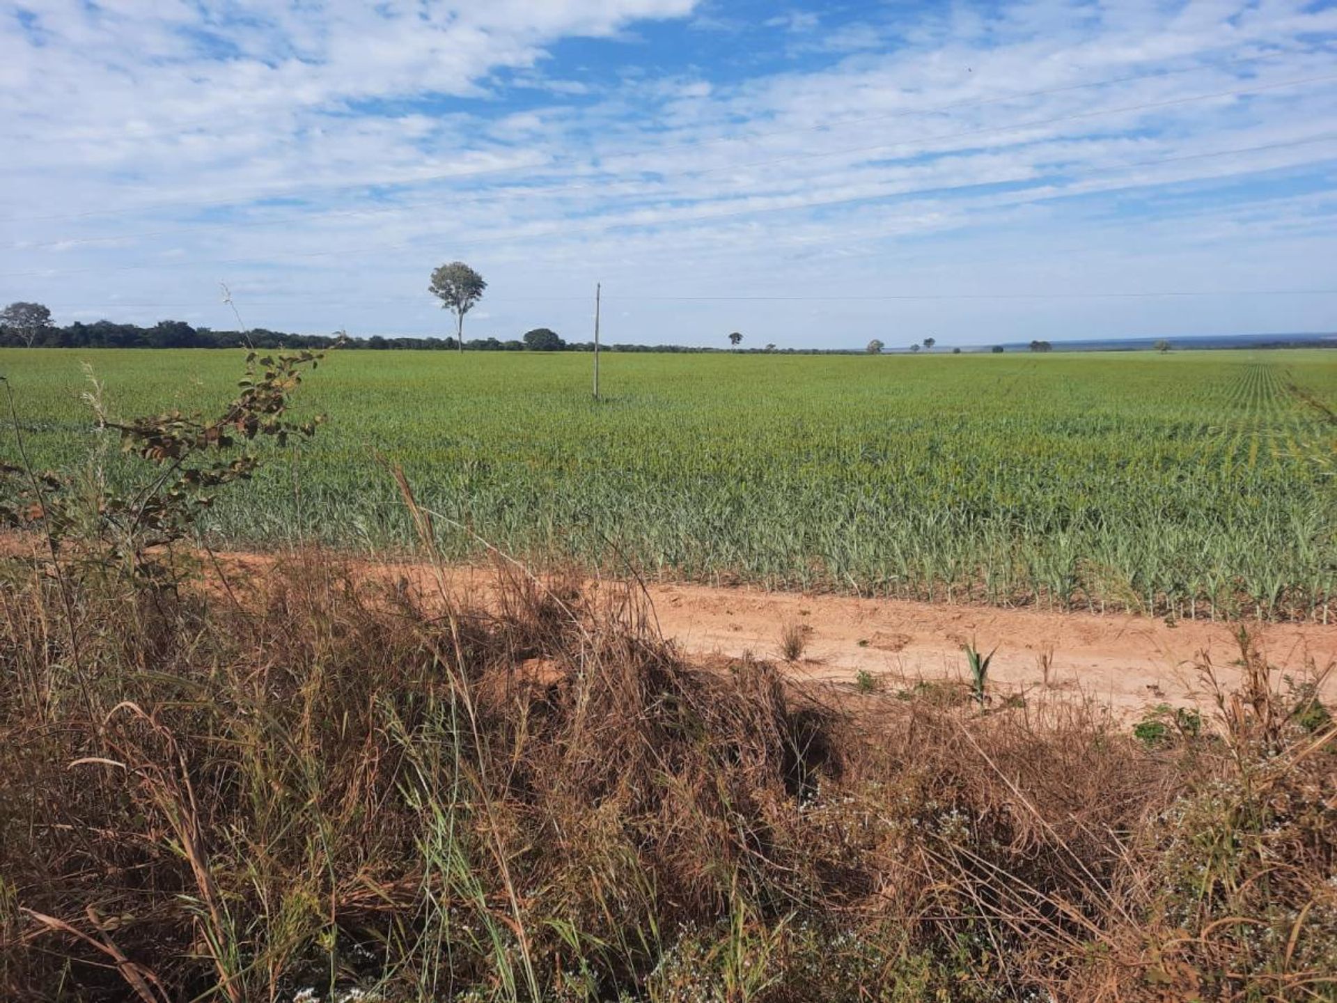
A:
{"type": "MultiPolygon", "coordinates": [[[[225,558],[238,570],[259,571],[273,556],[225,558]]],[[[425,586],[422,564],[364,564],[381,576],[404,576],[425,586]]],[[[473,600],[491,592],[493,568],[451,567],[448,587],[473,600]]],[[[536,579],[537,580],[537,579],[536,579]]],[[[614,583],[590,580],[598,588],[614,583]]],[[[624,583],[615,583],[622,587],[624,583]]],[[[1044,612],[1027,608],[947,606],[898,599],[769,592],[746,587],[648,584],[664,638],[690,659],[714,662],[751,653],[787,666],[798,678],[854,682],[869,673],[888,689],[917,681],[964,681],[963,645],[995,651],[989,686],[995,694],[1050,689],[1084,695],[1120,717],[1158,703],[1210,705],[1199,666],[1210,659],[1218,679],[1238,681],[1237,626],[1225,622],[1161,619],[1124,614],[1044,612]],[[802,658],[782,662],[781,635],[798,626],[802,658]],[[1048,679],[1043,661],[1048,657],[1048,679]]],[[[1337,665],[1337,626],[1247,622],[1269,663],[1297,682],[1337,665]]],[[[1321,685],[1325,702],[1337,698],[1337,671],[1321,685]]]]}

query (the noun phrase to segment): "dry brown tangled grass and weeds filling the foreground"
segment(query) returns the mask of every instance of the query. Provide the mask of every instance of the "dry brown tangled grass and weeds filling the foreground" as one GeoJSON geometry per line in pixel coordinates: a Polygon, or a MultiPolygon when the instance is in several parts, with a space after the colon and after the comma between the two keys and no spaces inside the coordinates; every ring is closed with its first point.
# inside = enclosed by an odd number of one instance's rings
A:
{"type": "Polygon", "coordinates": [[[497,574],[483,610],[324,554],[13,567],[0,995],[1332,998],[1333,728],[1247,638],[1147,750],[1050,691],[705,671],[631,590],[497,574]]]}

